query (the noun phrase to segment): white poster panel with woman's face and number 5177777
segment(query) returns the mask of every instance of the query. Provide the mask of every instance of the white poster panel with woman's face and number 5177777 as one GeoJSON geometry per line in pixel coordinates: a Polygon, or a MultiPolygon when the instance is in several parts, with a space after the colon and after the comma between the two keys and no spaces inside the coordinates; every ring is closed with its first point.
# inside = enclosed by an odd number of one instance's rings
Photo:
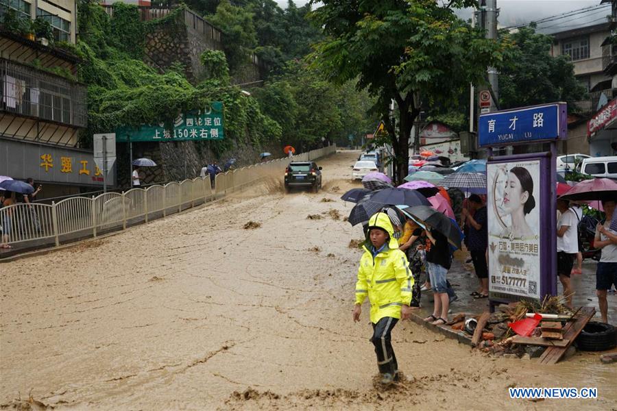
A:
{"type": "Polygon", "coordinates": [[[540,160],[487,164],[489,292],[540,298],[540,160]]]}

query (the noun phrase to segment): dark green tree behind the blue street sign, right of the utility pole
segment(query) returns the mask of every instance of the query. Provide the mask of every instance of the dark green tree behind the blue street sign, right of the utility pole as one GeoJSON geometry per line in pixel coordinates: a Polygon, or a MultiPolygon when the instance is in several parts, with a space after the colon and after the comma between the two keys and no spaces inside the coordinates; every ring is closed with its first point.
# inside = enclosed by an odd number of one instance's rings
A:
{"type": "Polygon", "coordinates": [[[501,32],[500,36],[514,45],[500,70],[501,109],[583,99],[586,90],[574,77],[574,64],[567,55],[551,55],[551,36],[536,33],[533,26],[513,34],[501,32]]]}

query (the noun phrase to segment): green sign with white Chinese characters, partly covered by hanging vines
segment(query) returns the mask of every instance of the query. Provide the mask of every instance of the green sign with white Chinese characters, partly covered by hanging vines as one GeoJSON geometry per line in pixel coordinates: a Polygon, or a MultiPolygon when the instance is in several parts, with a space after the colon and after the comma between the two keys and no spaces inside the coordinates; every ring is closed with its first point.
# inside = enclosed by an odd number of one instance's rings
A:
{"type": "Polygon", "coordinates": [[[214,101],[208,110],[180,114],[173,121],[173,130],[165,125],[141,125],[141,127],[119,127],[116,141],[184,141],[223,140],[223,103],[214,101]]]}

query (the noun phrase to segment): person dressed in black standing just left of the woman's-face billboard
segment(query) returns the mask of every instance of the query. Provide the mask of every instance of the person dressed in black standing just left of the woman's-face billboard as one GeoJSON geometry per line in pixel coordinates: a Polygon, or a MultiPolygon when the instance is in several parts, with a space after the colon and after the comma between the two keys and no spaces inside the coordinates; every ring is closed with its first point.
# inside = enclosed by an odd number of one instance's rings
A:
{"type": "Polygon", "coordinates": [[[473,213],[463,208],[462,220],[468,227],[467,247],[471,253],[474,269],[480,282],[478,291],[472,292],[474,299],[488,297],[488,265],[486,262],[486,250],[488,247],[487,213],[486,206],[482,205],[479,195],[472,194],[468,204],[473,213]],[[473,214],[473,216],[472,216],[473,214]]]}

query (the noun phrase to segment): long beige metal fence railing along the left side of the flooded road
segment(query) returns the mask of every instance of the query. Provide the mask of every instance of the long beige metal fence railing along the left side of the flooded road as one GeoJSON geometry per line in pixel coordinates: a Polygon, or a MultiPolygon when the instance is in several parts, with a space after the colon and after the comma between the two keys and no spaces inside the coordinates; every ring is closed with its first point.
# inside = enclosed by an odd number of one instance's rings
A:
{"type": "MultiPolygon", "coordinates": [[[[315,160],[335,152],[333,145],[295,155],[293,161],[315,160]]],[[[8,242],[15,249],[36,249],[147,223],[254,186],[265,177],[280,177],[287,164],[289,158],[280,158],[221,173],[215,177],[214,187],[209,177],[197,177],[51,204],[7,206],[0,208],[0,243],[8,242]]]]}

